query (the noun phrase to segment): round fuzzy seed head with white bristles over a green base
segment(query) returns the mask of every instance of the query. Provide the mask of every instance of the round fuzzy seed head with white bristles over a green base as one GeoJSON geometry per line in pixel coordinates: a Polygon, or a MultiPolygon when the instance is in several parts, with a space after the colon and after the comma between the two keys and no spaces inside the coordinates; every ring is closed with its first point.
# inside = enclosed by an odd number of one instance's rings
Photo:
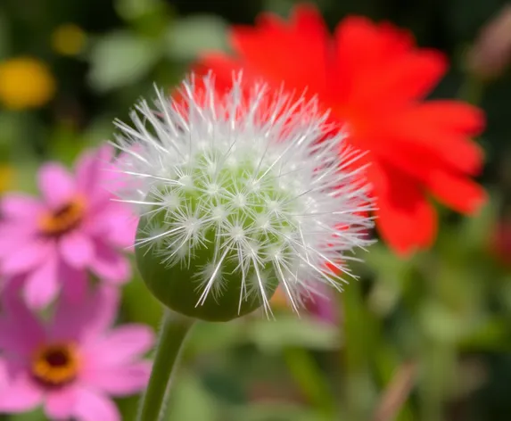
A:
{"type": "Polygon", "coordinates": [[[140,223],[137,264],[165,305],[229,320],[262,308],[281,285],[298,311],[318,284],[340,289],[346,252],[369,244],[367,186],[342,133],[325,137],[316,101],[241,77],[225,95],[211,76],[157,91],[120,121],[123,200],[140,223]],[[340,151],[345,151],[340,157],[340,151]]]}

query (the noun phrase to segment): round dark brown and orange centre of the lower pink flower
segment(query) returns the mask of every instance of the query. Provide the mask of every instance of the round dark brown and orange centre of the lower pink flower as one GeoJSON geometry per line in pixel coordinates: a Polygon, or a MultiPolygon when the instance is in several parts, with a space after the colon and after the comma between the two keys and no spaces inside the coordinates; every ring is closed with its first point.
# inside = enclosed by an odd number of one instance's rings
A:
{"type": "Polygon", "coordinates": [[[32,359],[32,376],[49,387],[72,382],[78,373],[78,352],[72,343],[40,347],[32,359]]]}

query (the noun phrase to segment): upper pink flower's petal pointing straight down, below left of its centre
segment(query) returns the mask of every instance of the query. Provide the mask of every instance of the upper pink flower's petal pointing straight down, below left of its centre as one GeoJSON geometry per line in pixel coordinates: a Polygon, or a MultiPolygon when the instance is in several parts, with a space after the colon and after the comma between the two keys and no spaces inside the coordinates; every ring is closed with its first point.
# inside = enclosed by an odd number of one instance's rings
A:
{"type": "Polygon", "coordinates": [[[34,270],[25,282],[23,295],[32,309],[43,309],[59,292],[57,260],[52,258],[34,270]]]}

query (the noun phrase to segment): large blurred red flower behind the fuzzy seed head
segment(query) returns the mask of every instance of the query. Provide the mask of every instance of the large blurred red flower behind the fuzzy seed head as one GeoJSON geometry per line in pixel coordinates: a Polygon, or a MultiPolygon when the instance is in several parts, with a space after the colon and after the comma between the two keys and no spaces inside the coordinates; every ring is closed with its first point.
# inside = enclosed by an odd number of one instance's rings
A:
{"type": "Polygon", "coordinates": [[[263,14],[255,27],[233,28],[230,38],[234,57],[208,54],[195,70],[213,70],[220,89],[243,69],[245,82],[262,78],[317,95],[337,127],[346,123],[350,144],[368,152],[377,227],[396,252],[433,243],[430,195],[462,213],[485,201],[471,180],[482,167],[482,151],[470,140],[482,131],[482,112],[457,101],[423,101],[447,70],[440,52],[362,17],[346,18],[330,37],[310,5],[296,7],[289,22],[263,14]]]}

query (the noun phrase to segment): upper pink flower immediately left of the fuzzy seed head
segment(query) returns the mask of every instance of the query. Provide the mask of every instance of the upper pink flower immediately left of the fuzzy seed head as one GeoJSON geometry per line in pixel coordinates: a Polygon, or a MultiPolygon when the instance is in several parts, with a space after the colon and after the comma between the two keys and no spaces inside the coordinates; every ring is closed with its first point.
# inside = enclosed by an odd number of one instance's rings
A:
{"type": "Polygon", "coordinates": [[[79,300],[87,287],[87,269],[120,283],[130,265],[120,252],[135,239],[136,219],[128,207],[113,202],[105,189],[112,149],[84,153],[75,174],[58,163],[38,172],[42,198],[7,194],[0,202],[0,275],[21,277],[30,307],[54,300],[63,286],[79,300]]]}

